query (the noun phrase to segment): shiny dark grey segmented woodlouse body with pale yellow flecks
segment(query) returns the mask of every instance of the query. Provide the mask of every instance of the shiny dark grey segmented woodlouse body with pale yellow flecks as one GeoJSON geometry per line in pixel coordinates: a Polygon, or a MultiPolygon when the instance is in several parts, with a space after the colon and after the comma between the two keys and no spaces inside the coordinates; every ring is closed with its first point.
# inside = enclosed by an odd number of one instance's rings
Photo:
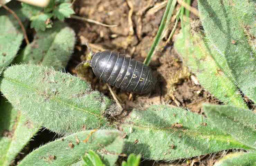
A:
{"type": "Polygon", "coordinates": [[[110,50],[93,54],[89,64],[104,83],[127,92],[148,93],[157,80],[150,67],[110,50]]]}

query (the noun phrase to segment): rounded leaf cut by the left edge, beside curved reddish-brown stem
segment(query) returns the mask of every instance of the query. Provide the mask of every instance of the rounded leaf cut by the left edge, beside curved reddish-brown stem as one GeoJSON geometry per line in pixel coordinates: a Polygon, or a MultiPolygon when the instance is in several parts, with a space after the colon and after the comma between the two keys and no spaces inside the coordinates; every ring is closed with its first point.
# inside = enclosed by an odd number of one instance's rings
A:
{"type": "Polygon", "coordinates": [[[23,33],[18,21],[10,15],[0,16],[0,71],[11,64],[22,40],[23,33]]]}

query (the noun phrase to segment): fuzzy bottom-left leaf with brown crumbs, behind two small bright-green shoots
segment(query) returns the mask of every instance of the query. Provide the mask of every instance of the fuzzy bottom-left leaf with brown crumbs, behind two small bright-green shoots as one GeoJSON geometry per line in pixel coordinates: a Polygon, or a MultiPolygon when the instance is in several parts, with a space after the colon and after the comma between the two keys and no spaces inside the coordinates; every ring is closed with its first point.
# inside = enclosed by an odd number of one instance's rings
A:
{"type": "Polygon", "coordinates": [[[69,166],[76,165],[76,163],[81,164],[81,156],[84,153],[88,153],[90,149],[97,151],[98,154],[103,154],[103,162],[108,163],[106,156],[120,154],[122,151],[123,140],[120,135],[119,131],[114,130],[77,132],[32,151],[18,166],[69,166]],[[106,149],[108,147],[111,147],[110,150],[106,149]]]}

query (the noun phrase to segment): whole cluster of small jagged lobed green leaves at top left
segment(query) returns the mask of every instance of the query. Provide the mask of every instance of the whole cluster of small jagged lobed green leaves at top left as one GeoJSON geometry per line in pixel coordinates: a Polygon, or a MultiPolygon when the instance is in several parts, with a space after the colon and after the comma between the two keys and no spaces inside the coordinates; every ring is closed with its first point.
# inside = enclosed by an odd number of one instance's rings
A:
{"type": "Polygon", "coordinates": [[[66,1],[51,0],[45,8],[22,3],[22,11],[31,20],[31,28],[35,28],[36,31],[45,31],[46,28],[52,26],[52,22],[49,21],[52,17],[63,21],[74,14],[75,12],[71,6],[72,4],[66,3],[66,1]]]}

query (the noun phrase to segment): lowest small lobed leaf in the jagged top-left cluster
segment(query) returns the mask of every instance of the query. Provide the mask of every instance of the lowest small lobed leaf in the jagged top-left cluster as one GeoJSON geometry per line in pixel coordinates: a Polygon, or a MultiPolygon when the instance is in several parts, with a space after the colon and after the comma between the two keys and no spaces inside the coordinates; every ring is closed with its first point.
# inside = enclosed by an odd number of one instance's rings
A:
{"type": "Polygon", "coordinates": [[[45,31],[46,29],[46,20],[50,19],[53,16],[52,13],[40,13],[39,15],[33,16],[30,18],[31,20],[31,28],[35,28],[36,31],[42,30],[45,31]]]}

